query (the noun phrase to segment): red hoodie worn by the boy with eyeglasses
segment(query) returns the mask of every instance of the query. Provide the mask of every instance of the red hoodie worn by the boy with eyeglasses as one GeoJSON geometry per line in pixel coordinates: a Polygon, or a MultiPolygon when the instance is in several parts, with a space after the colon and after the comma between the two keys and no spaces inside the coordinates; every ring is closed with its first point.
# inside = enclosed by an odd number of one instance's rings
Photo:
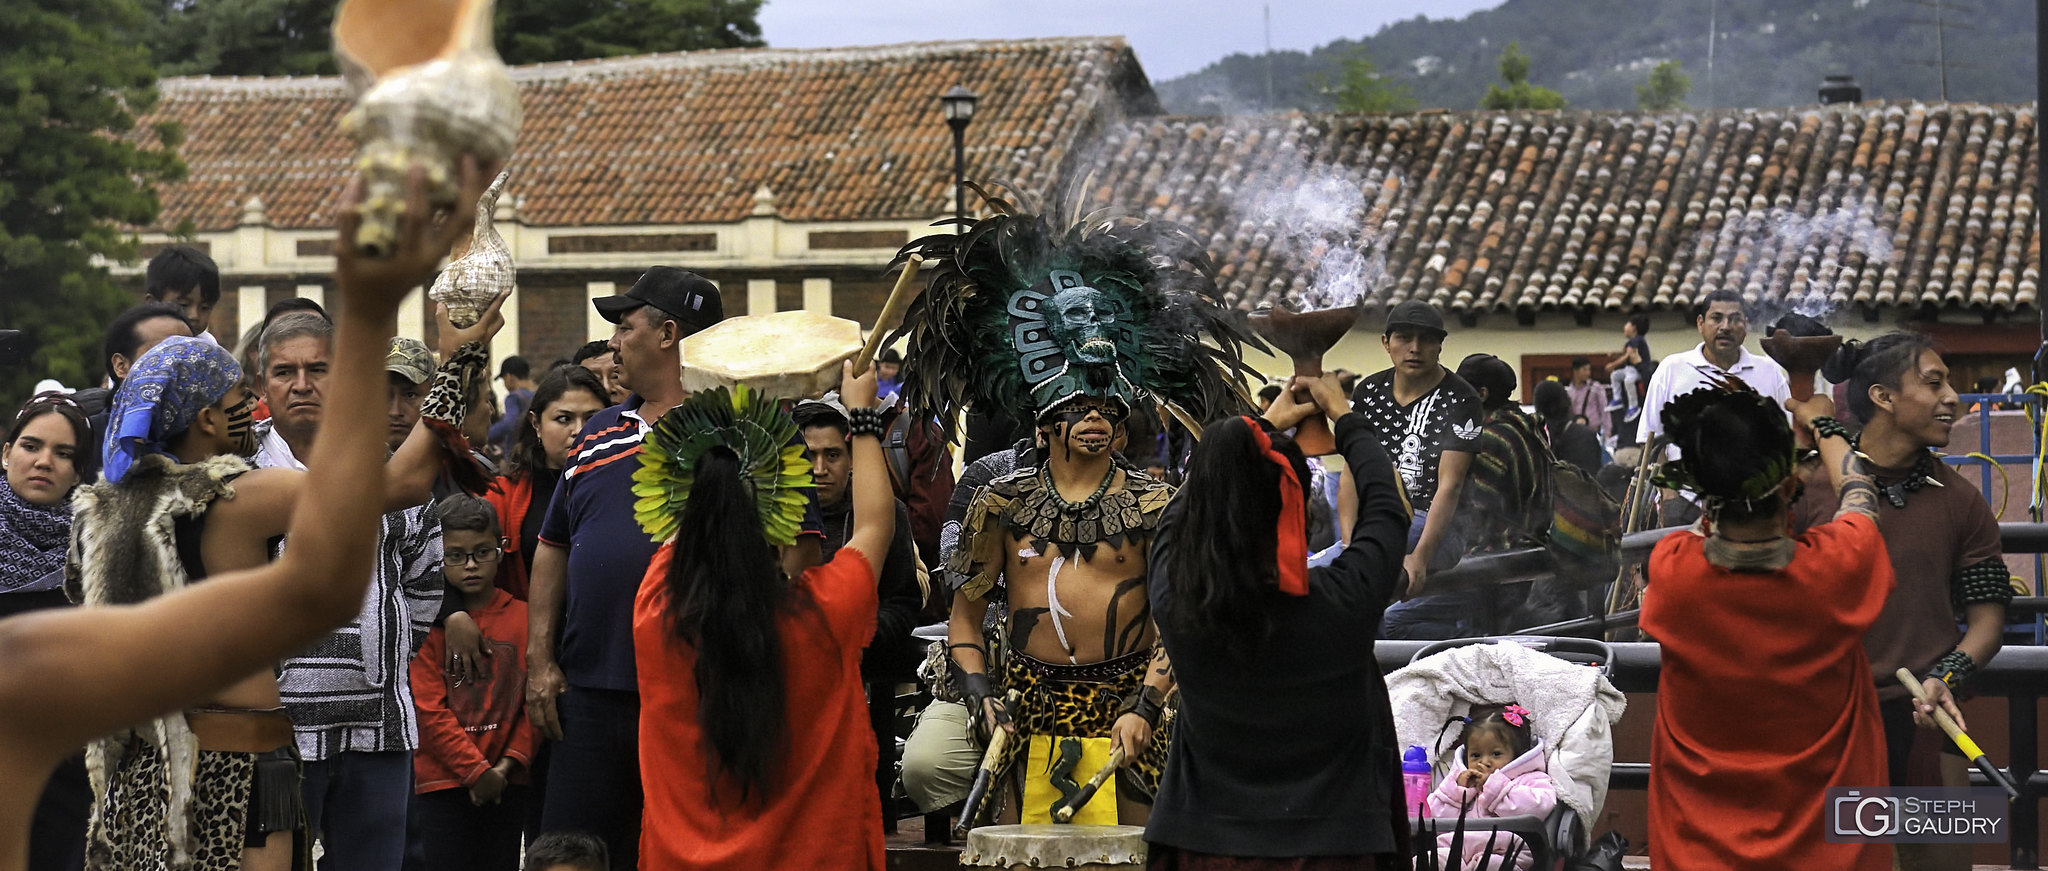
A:
{"type": "Polygon", "coordinates": [[[512,783],[526,783],[541,738],[526,719],[526,603],[492,590],[492,603],[471,613],[489,646],[489,672],[457,685],[440,668],[446,631],[434,627],[412,660],[412,703],[420,709],[420,752],[412,756],[414,791],[465,789],[500,758],[520,764],[512,783]]]}

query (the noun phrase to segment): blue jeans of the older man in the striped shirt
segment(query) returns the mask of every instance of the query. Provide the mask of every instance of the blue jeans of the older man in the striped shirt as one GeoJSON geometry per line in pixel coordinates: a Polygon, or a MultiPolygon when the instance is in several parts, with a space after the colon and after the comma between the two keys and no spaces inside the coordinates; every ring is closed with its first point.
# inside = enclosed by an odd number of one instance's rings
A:
{"type": "Polygon", "coordinates": [[[301,791],[324,851],[319,871],[389,871],[406,861],[412,750],[305,762],[301,791]]]}

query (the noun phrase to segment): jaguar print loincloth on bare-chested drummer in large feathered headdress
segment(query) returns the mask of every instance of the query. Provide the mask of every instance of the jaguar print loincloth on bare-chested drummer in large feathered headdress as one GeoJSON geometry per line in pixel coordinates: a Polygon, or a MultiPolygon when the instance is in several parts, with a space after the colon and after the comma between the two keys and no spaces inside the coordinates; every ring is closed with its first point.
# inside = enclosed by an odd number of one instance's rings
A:
{"type": "MultiPolygon", "coordinates": [[[[1151,656],[1147,648],[1114,660],[1061,666],[1012,652],[999,693],[1020,691],[1024,697],[1010,713],[1018,723],[1018,740],[1008,744],[997,771],[1012,771],[1030,736],[1108,738],[1116,725],[1116,707],[1145,682],[1151,656]]],[[[1116,771],[1116,795],[1151,803],[1171,744],[1174,715],[1167,713],[1139,760],[1116,771]]],[[[1092,773],[1075,773],[1075,779],[1085,781],[1087,775],[1092,773]]]]}

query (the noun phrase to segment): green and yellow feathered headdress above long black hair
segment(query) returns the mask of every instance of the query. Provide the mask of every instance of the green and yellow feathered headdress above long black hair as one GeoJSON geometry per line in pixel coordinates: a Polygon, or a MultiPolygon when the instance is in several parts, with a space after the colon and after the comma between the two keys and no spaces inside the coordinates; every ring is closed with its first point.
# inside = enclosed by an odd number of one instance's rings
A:
{"type": "Polygon", "coordinates": [[[741,478],[754,492],[762,533],[770,545],[797,543],[811,484],[797,422],[782,406],[748,385],[707,389],[672,408],[647,432],[641,467],[633,471],[633,519],[655,541],[668,541],[682,523],[682,506],[696,486],[696,459],[713,447],[739,455],[741,478]]]}

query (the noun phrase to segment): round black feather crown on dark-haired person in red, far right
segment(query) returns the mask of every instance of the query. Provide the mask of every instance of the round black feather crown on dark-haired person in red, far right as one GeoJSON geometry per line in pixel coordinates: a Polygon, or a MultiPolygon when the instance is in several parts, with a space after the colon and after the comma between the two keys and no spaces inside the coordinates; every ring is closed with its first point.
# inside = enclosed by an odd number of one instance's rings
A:
{"type": "Polygon", "coordinates": [[[1679,457],[1659,465],[1653,482],[1708,500],[1763,500],[1798,461],[1786,410],[1735,375],[1708,373],[1706,387],[1667,402],[1663,430],[1679,457]],[[1731,439],[1733,428],[1761,451],[1737,447],[1743,439],[1731,439]]]}

